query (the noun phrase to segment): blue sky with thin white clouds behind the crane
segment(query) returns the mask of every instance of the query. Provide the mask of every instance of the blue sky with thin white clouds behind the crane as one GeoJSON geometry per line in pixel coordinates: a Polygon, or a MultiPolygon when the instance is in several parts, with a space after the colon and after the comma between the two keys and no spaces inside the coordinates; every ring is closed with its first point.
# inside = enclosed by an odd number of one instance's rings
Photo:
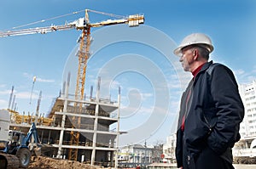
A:
{"type": "MultiPolygon", "coordinates": [[[[91,52],[93,57],[88,62],[85,93],[89,94],[90,85],[95,86],[96,76],[102,76],[102,90],[105,87],[104,82],[109,80],[104,80],[104,76],[113,76],[107,84],[109,91],[102,93],[102,97],[109,97],[111,94],[111,98],[116,99],[118,87],[122,88],[120,127],[122,131],[131,133],[127,135],[129,139],[124,144],[142,143],[145,139],[148,143],[158,140],[165,142],[177,116],[179,98],[184,86],[180,78],[190,77],[189,73],[183,74],[178,67],[178,59],[172,54],[172,49],[190,33],[206,33],[212,38],[215,48],[211,59],[230,66],[240,84],[252,82],[256,79],[253,54],[256,45],[255,5],[253,0],[9,0],[1,3],[0,31],[71,14],[85,8],[125,16],[144,14],[145,25],[140,28],[113,25],[92,29],[94,42],[91,49],[94,51],[91,52]],[[137,39],[138,37],[141,39],[137,39]],[[122,38],[127,39],[122,41],[122,38]],[[96,45],[102,45],[99,43],[102,40],[108,40],[109,43],[99,49],[96,45]],[[169,44],[170,54],[167,54],[169,44]],[[108,70],[107,74],[104,70],[108,70]],[[154,79],[155,76],[158,79],[154,79]],[[160,86],[160,82],[164,85],[160,86]],[[148,119],[151,117],[159,117],[160,121],[150,125],[151,121],[148,119]],[[145,131],[143,124],[147,123],[149,125],[145,126],[148,127],[145,131]],[[136,130],[138,132],[134,132],[136,130]],[[133,132],[140,134],[141,130],[146,132],[145,136],[142,134],[142,138],[132,135],[133,132]]],[[[63,25],[66,21],[80,17],[84,17],[83,12],[19,29],[63,25]]],[[[108,16],[90,14],[91,22],[108,19],[108,16]]],[[[7,108],[11,87],[15,86],[15,102],[20,112],[35,111],[38,94],[42,91],[40,112],[47,114],[53,99],[59,95],[65,70],[71,64],[69,58],[72,57],[79,35],[79,31],[70,30],[46,35],[0,38],[0,108],[7,108]],[[33,76],[37,76],[37,81],[33,88],[32,104],[29,104],[33,76]]]]}

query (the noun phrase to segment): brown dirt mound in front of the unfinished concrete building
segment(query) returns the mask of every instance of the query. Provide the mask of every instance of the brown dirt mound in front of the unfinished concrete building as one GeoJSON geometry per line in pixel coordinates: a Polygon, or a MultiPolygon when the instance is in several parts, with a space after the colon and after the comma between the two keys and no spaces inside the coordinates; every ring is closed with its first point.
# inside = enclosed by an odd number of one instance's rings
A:
{"type": "Polygon", "coordinates": [[[79,161],[68,161],[63,159],[53,159],[44,156],[38,156],[32,159],[30,169],[102,169],[100,166],[90,166],[79,161]]]}

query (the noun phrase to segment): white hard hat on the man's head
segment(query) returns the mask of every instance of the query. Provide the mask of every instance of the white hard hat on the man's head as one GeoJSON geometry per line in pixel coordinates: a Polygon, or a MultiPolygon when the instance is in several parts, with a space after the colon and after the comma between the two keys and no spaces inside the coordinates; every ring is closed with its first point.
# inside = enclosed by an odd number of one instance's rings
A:
{"type": "Polygon", "coordinates": [[[193,44],[196,44],[202,48],[207,48],[209,53],[211,53],[213,50],[212,41],[209,37],[207,37],[203,33],[193,33],[183,38],[183,41],[180,43],[180,45],[176,49],[174,49],[173,53],[179,56],[182,53],[182,49],[184,47],[187,47],[193,44]]]}

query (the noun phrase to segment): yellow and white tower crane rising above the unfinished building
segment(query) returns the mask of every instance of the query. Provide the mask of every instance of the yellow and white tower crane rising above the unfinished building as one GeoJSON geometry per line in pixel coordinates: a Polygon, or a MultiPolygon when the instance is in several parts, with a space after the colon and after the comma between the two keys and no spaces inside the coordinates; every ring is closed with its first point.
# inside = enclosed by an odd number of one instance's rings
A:
{"type": "MultiPolygon", "coordinates": [[[[138,26],[144,23],[143,14],[133,14],[128,17],[116,15],[116,14],[108,14],[96,10],[85,9],[84,18],[80,18],[79,20],[74,20],[73,22],[67,23],[65,25],[50,25],[46,27],[37,27],[37,28],[28,28],[16,31],[0,31],[0,37],[11,37],[11,36],[20,36],[20,35],[28,35],[28,34],[36,34],[41,33],[45,34],[51,31],[65,31],[71,29],[77,29],[82,31],[82,35],[79,39],[79,52],[78,52],[78,71],[77,71],[77,82],[75,89],[75,99],[83,100],[84,99],[84,84],[85,84],[85,75],[86,75],[86,67],[87,60],[90,57],[90,28],[91,27],[101,27],[106,25],[118,25],[118,24],[127,24],[130,27],[138,26]],[[89,12],[96,14],[108,15],[111,17],[119,18],[117,20],[104,20],[101,22],[90,23],[89,20],[89,12]]],[[[82,106],[80,102],[74,103],[74,107],[78,108],[76,113],[81,113],[82,106]]],[[[77,124],[80,127],[81,117],[73,116],[73,123],[77,124]]],[[[79,132],[71,132],[71,144],[79,145],[79,132]]],[[[69,160],[77,161],[78,158],[78,150],[79,149],[70,149],[68,158],[69,160]]]]}

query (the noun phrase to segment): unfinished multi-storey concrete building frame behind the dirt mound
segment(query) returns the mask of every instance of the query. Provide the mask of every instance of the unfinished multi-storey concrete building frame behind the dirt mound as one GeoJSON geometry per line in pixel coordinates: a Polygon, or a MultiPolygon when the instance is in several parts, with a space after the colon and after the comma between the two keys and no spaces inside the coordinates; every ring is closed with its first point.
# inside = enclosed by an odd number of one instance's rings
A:
{"type": "MultiPolygon", "coordinates": [[[[100,78],[96,96],[76,100],[65,92],[55,99],[47,118],[20,115],[11,110],[11,129],[28,132],[35,121],[38,136],[44,145],[42,154],[82,161],[91,165],[116,166],[119,140],[120,89],[117,101],[100,99],[100,78]]],[[[90,88],[92,90],[92,87],[90,88]]]]}

